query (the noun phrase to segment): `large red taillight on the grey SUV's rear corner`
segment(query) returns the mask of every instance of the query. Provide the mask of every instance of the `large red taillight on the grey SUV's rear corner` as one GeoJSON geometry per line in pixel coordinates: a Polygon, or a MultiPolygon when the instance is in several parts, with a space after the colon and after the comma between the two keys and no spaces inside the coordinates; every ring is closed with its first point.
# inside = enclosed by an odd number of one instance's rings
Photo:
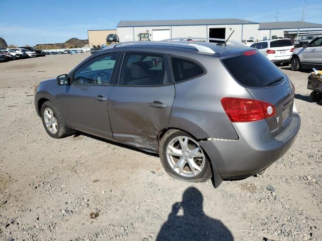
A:
{"type": "Polygon", "coordinates": [[[230,122],[255,122],[276,114],[273,104],[256,99],[224,97],[221,104],[230,122]]]}

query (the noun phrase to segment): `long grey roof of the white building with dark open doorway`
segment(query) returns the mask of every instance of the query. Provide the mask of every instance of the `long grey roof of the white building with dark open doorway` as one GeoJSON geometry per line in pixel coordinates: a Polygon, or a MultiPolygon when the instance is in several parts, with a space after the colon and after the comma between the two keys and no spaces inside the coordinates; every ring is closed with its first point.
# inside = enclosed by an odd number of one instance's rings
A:
{"type": "Polygon", "coordinates": [[[188,26],[188,25],[224,25],[224,24],[259,24],[241,19],[176,19],[176,20],[121,20],[117,27],[155,27],[155,26],[188,26]]]}

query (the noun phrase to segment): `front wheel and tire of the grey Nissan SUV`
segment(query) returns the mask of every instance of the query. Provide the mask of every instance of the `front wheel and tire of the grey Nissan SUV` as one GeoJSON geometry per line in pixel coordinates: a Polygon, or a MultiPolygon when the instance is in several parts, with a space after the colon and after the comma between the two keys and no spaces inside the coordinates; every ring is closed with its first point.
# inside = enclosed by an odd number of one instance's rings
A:
{"type": "Polygon", "coordinates": [[[42,124],[44,125],[44,128],[49,136],[58,139],[67,135],[68,129],[65,127],[64,119],[59,110],[51,101],[46,101],[43,103],[40,113],[42,124]],[[48,114],[45,114],[45,111],[48,114]],[[48,123],[49,121],[50,123],[47,127],[46,122],[48,123]]]}

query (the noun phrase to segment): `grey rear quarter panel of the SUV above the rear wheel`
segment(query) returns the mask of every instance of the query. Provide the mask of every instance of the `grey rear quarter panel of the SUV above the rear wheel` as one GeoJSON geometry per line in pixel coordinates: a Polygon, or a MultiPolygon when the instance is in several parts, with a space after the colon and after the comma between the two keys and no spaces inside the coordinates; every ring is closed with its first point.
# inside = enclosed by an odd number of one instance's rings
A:
{"type": "Polygon", "coordinates": [[[196,79],[175,84],[176,97],[170,117],[170,128],[184,130],[197,139],[221,138],[237,140],[222,105],[222,97],[252,98],[223,67],[218,57],[185,56],[197,60],[207,73],[196,79]]]}

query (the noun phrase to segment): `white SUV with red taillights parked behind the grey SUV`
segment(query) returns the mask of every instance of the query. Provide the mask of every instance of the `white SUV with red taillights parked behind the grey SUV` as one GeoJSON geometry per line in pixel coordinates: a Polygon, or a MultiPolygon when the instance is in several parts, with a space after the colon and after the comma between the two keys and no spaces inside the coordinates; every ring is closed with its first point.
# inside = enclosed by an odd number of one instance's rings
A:
{"type": "Polygon", "coordinates": [[[264,54],[274,64],[289,65],[294,46],[290,39],[273,39],[258,41],[251,45],[264,54]]]}

